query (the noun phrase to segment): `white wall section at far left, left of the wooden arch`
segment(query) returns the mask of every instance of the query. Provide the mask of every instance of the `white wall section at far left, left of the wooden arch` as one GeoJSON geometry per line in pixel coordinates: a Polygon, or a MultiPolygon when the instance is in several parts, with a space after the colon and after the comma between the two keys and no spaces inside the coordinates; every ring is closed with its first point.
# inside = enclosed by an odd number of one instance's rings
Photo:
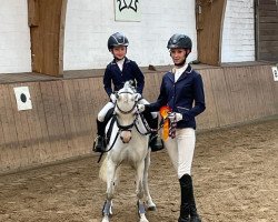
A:
{"type": "Polygon", "coordinates": [[[30,71],[27,0],[0,0],[0,73],[30,71]]]}

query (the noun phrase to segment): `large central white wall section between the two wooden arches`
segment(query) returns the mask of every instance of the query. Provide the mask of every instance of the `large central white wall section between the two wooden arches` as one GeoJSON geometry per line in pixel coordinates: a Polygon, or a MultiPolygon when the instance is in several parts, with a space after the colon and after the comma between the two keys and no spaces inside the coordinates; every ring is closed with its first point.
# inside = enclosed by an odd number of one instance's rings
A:
{"type": "Polygon", "coordinates": [[[113,1],[68,0],[64,70],[105,68],[112,59],[107,40],[117,31],[128,37],[127,57],[140,67],[171,63],[167,42],[179,32],[193,42],[188,61],[197,59],[195,0],[140,0],[140,22],[115,21],[113,1]]]}

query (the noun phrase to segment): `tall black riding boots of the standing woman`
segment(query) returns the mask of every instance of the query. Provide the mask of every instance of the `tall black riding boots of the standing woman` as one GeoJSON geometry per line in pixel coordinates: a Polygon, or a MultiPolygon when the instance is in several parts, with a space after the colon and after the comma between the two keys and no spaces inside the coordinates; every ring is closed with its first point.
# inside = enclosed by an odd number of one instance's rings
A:
{"type": "Polygon", "coordinates": [[[201,222],[196,209],[191,176],[189,174],[185,174],[179,182],[181,190],[181,204],[178,222],[201,222]]]}

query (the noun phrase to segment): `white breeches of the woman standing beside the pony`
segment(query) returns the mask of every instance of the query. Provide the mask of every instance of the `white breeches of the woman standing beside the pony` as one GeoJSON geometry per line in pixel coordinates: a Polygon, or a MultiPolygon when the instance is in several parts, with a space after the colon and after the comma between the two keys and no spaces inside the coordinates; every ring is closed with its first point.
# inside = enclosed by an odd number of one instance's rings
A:
{"type": "Polygon", "coordinates": [[[196,133],[192,128],[177,129],[176,138],[165,141],[168,154],[180,179],[183,174],[191,174],[191,164],[196,143],[196,133]]]}

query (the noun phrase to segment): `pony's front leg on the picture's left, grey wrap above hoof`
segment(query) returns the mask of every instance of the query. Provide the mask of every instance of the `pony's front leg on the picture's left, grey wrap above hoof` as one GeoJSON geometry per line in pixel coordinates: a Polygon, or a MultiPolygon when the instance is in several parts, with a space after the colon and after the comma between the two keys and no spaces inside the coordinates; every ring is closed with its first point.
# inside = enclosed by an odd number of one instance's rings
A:
{"type": "Polygon", "coordinates": [[[109,222],[109,215],[112,214],[112,198],[115,193],[116,164],[112,161],[107,162],[107,200],[105,202],[102,222],[109,222]]]}

